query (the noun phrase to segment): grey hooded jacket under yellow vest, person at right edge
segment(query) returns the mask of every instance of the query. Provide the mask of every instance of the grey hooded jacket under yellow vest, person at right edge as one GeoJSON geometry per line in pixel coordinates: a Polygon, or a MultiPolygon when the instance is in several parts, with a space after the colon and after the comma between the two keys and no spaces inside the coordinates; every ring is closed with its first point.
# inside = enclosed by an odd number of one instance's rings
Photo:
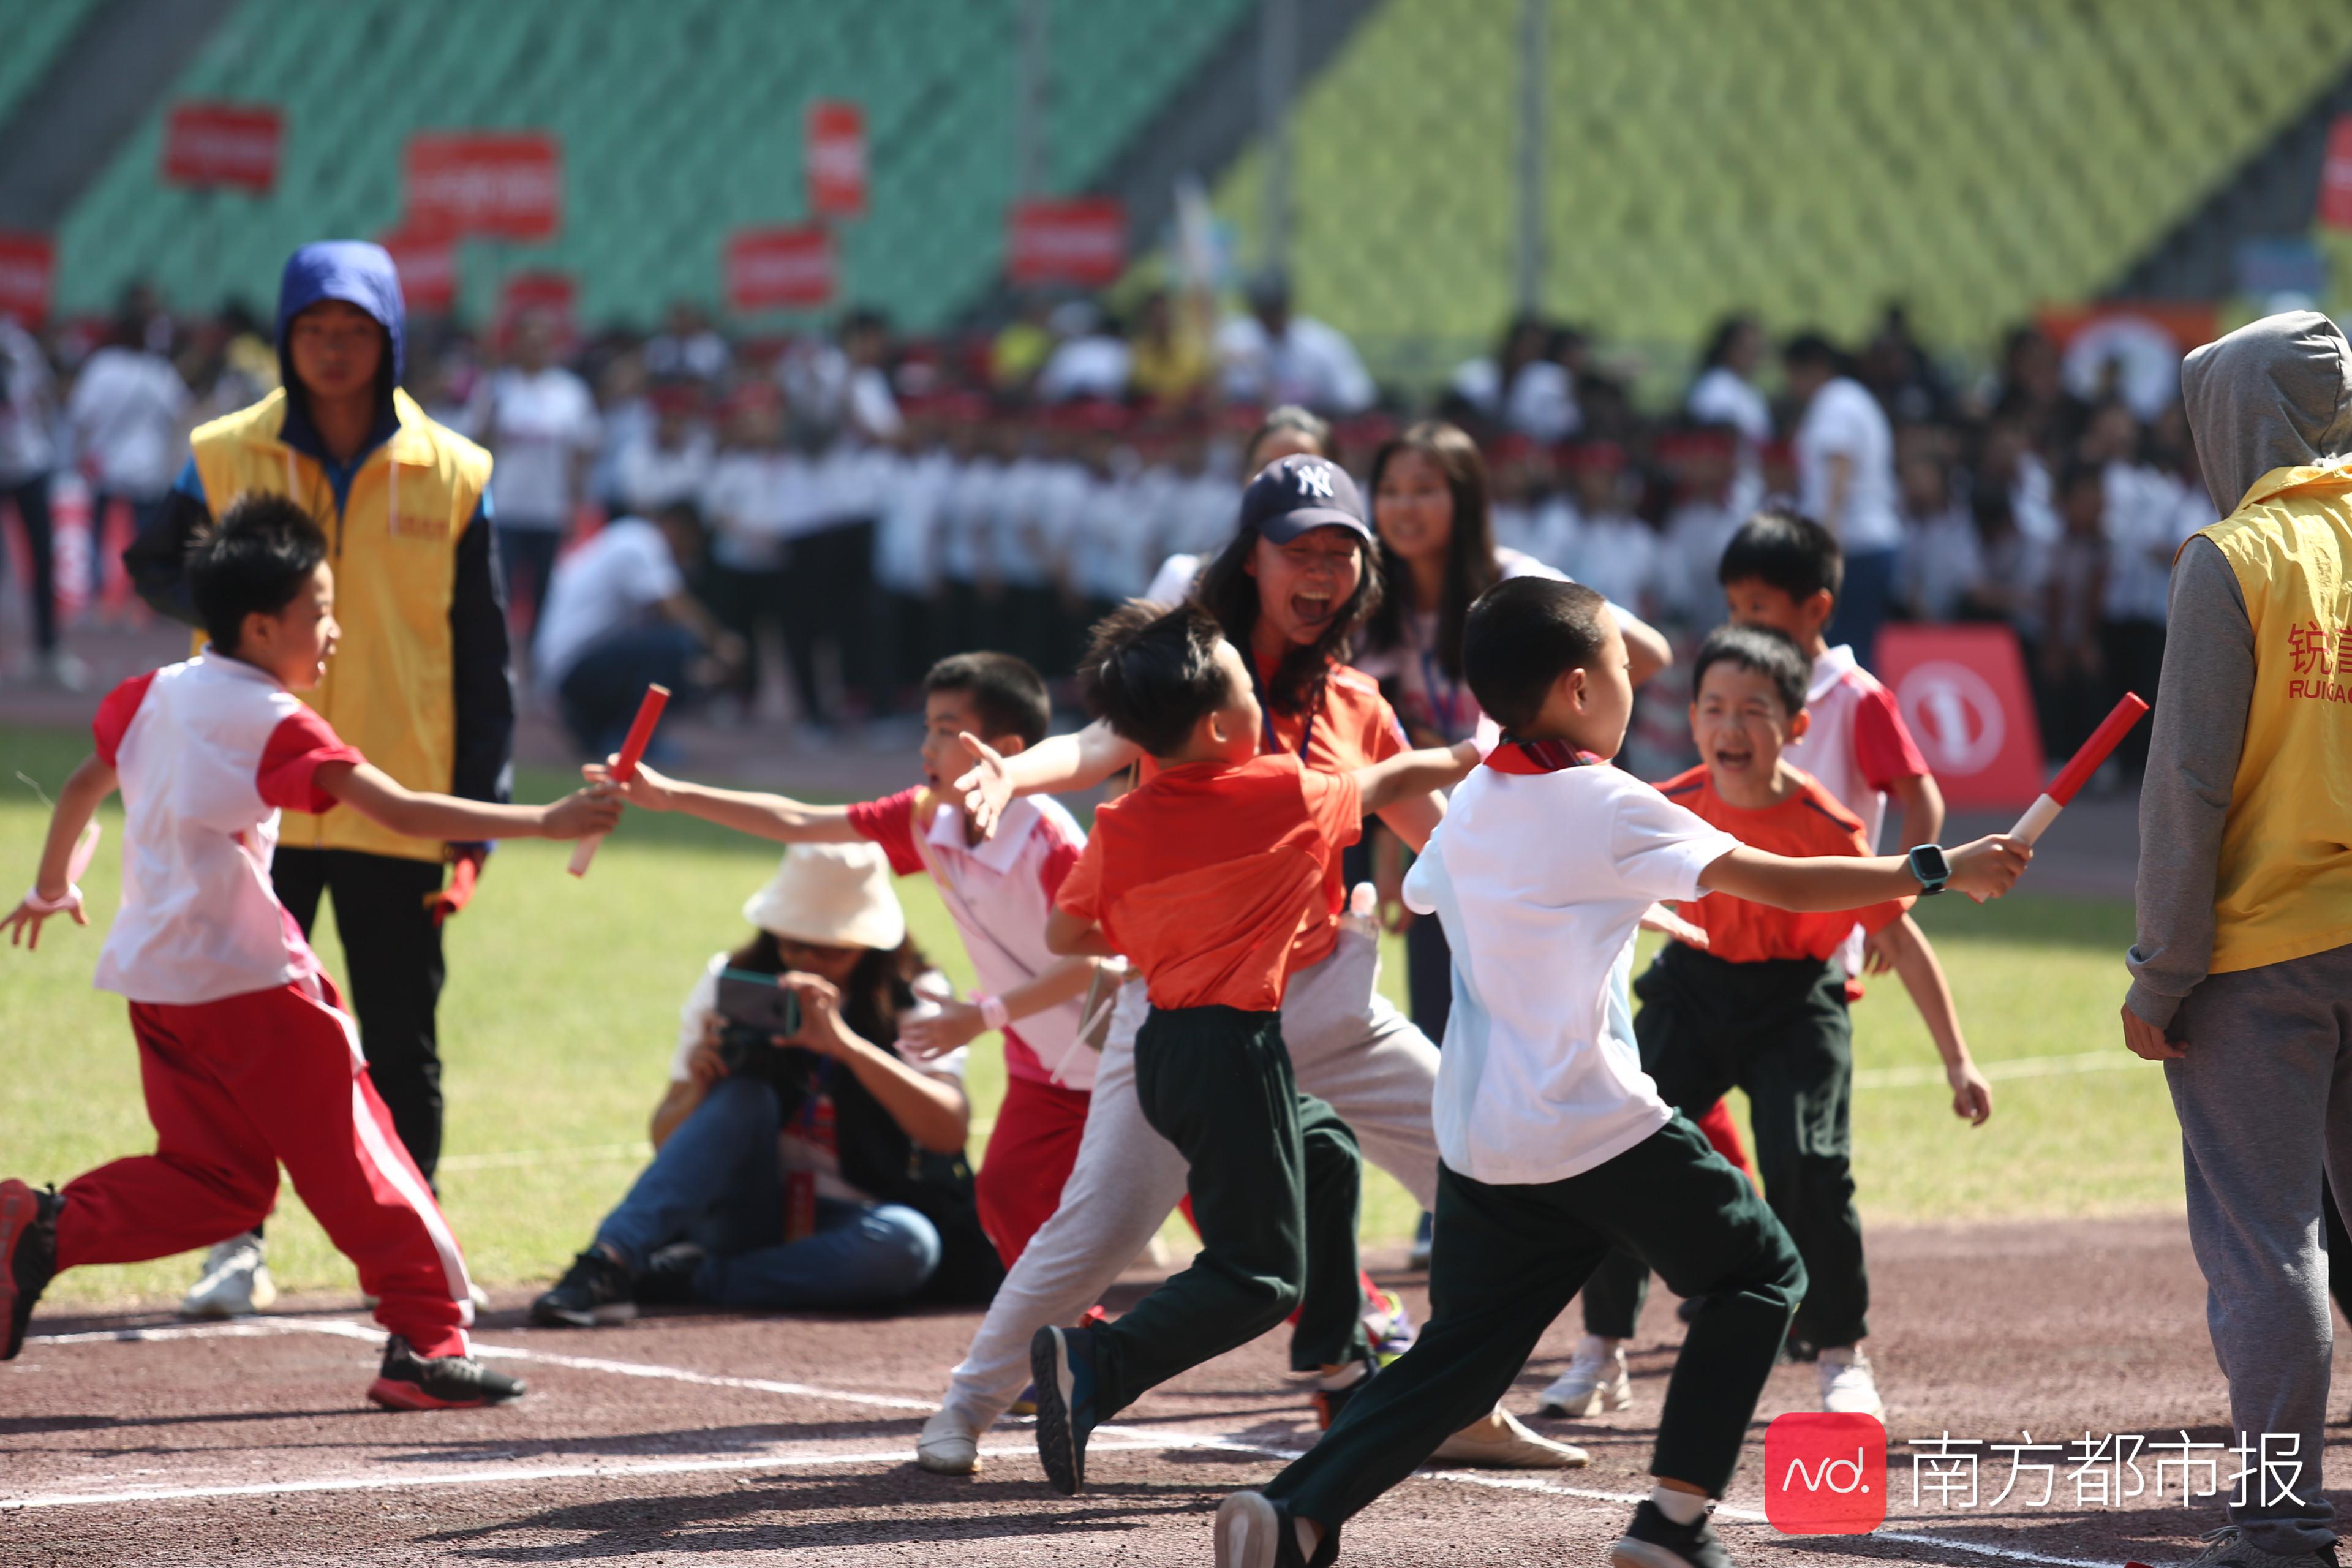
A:
{"type": "MultiPolygon", "coordinates": [[[[2239,327],[2180,367],[2190,437],[2227,517],[2272,468],[2352,451],[2352,343],[2317,310],[2239,327]]],[[[2209,538],[2173,562],[2164,675],[2140,785],[2138,943],[2126,1006],[2173,1020],[2213,959],[2213,877],[2246,743],[2253,625],[2237,574],[2209,538]]]]}

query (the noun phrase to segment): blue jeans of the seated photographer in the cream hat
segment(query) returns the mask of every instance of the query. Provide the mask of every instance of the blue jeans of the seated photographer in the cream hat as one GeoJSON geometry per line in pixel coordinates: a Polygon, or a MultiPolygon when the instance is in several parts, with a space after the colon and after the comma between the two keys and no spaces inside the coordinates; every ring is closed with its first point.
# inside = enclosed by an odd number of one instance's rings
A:
{"type": "Polygon", "coordinates": [[[816,1201],[816,1234],[783,1237],[776,1091],[720,1079],[604,1215],[595,1239],[633,1274],[673,1241],[706,1258],[694,1295],[720,1307],[889,1307],[938,1267],[938,1229],[903,1204],[816,1201]]]}

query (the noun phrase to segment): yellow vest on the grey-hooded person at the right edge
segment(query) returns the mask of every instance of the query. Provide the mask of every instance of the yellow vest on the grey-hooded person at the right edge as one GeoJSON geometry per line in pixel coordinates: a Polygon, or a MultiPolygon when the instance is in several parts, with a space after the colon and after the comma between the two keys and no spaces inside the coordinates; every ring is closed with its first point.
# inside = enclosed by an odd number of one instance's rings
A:
{"type": "Polygon", "coordinates": [[[2232,973],[2352,943],[2352,458],[2270,470],[2204,536],[2253,623],[2213,882],[2213,973],[2232,973]]]}

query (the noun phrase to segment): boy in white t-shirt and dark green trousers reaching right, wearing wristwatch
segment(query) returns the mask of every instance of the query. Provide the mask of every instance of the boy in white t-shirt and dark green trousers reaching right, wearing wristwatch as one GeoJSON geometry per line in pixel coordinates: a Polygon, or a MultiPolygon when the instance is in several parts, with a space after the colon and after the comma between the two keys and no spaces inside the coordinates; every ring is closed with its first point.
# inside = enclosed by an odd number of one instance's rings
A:
{"type": "Polygon", "coordinates": [[[1432,1321],[1305,1458],[1263,1493],[1225,1500],[1218,1568],[1334,1561],[1338,1528],[1510,1387],[1611,1248],[1677,1295],[1705,1298],[1658,1418],[1658,1486],[1611,1563],[1724,1568],[1710,1497],[1738,1469],[1804,1265],[1609,1023],[1628,1016],[1635,926],[1653,900],[1700,891],[1790,910],[1867,907],[1924,886],[1997,898],[2032,858],[2018,839],[1910,858],[1745,849],[1606,766],[1632,682],[1602,604],[1590,588],[1512,578],[1470,609],[1465,672],[1505,741],[1454,792],[1404,882],[1454,947],[1432,1321]]]}

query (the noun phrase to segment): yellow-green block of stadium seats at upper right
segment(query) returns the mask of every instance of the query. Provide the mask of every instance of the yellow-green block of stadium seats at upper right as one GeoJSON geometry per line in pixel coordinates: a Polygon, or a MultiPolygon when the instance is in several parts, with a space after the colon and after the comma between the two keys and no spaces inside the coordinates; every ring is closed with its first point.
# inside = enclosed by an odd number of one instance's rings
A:
{"type": "MultiPolygon", "coordinates": [[[[2296,0],[1555,0],[1548,31],[1543,303],[1675,350],[1889,299],[1983,348],[2352,63],[2352,9],[2296,0]]],[[[1435,371],[1512,306],[1517,40],[1503,0],[1385,5],[1296,103],[1296,294],[1376,364],[1435,371]]],[[[1214,193],[1242,256],[1258,181],[1214,193]]]]}

